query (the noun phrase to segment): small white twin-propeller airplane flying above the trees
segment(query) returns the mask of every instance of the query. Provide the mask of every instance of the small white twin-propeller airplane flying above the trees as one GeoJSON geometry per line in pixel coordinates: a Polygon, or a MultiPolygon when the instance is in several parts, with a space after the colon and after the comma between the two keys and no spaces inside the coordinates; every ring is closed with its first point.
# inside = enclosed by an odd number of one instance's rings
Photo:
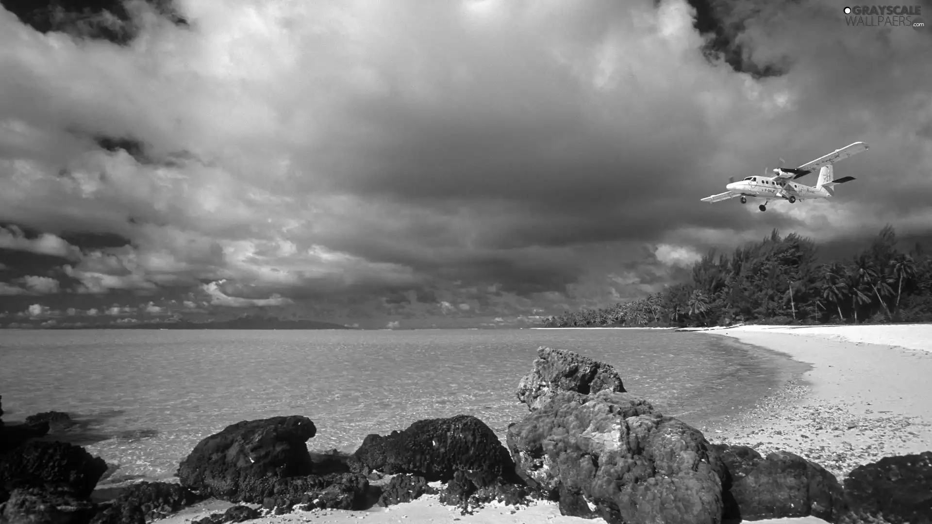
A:
{"type": "Polygon", "coordinates": [[[767,211],[767,204],[771,200],[784,199],[789,200],[789,203],[793,203],[796,200],[829,199],[835,194],[832,187],[855,179],[853,176],[835,179],[832,165],[839,160],[847,159],[867,150],[867,144],[856,142],[845,145],[841,149],[836,149],[822,158],[802,164],[802,166],[795,169],[782,167],[784,162],[781,159],[781,167],[774,169],[774,175],[770,175],[768,170],[764,169],[763,176],[748,176],[744,180],[737,182],[732,177],[729,179],[731,183],[725,186],[728,191],[706,197],[702,201],[720,202],[721,200],[741,197],[741,203],[744,204],[747,203],[747,199],[762,199],[764,202],[759,208],[761,211],[767,211]],[[792,182],[816,170],[819,170],[816,186],[805,186],[792,182]]]}

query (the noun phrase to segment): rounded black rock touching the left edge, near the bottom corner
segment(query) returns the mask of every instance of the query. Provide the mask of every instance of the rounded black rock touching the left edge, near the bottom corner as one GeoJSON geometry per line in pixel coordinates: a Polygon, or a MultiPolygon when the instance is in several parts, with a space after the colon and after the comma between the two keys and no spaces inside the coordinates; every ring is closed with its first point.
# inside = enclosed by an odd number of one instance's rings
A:
{"type": "Polygon", "coordinates": [[[67,487],[88,498],[107,469],[100,457],[64,442],[28,442],[0,463],[0,485],[10,488],[67,487]]]}

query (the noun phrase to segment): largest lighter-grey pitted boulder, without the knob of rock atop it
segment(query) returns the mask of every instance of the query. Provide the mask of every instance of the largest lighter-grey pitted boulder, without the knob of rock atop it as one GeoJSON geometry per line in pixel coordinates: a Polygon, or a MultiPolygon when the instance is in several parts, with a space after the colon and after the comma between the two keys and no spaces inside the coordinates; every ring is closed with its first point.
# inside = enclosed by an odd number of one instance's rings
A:
{"type": "Polygon", "coordinates": [[[541,494],[571,497],[561,511],[581,514],[572,516],[612,524],[721,520],[719,453],[695,428],[628,393],[556,392],[508,428],[508,447],[541,494]]]}

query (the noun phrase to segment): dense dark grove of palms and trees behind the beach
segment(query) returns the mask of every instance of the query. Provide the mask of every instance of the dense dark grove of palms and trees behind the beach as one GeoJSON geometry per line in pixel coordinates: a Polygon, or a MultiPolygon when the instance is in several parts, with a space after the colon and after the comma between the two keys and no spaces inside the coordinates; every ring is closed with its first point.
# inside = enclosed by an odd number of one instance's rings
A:
{"type": "Polygon", "coordinates": [[[846,261],[819,263],[816,242],[795,233],[710,252],[692,283],[599,310],[566,311],[542,327],[932,322],[932,255],[897,249],[891,226],[846,261]]]}

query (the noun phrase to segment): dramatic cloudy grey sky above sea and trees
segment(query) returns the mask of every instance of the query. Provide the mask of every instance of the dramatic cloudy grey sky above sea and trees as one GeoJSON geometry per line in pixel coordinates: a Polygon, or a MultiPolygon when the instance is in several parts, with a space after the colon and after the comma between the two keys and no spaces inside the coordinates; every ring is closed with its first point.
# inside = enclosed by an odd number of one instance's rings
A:
{"type": "Polygon", "coordinates": [[[520,324],[932,234],[932,29],[841,0],[0,4],[0,325],[520,324]],[[856,141],[830,202],[699,200],[856,141]]]}

